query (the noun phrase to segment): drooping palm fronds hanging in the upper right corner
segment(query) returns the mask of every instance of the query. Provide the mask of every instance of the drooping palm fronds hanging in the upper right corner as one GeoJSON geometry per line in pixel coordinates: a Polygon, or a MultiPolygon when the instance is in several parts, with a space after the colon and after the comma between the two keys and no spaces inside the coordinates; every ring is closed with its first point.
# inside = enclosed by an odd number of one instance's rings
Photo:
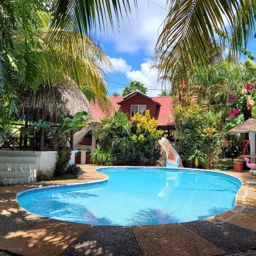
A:
{"type": "Polygon", "coordinates": [[[252,40],[256,0],[169,0],[169,14],[155,48],[160,76],[182,84],[193,67],[211,64],[229,42],[230,56],[238,56],[252,40]],[[228,29],[231,28],[231,37],[228,29]]]}

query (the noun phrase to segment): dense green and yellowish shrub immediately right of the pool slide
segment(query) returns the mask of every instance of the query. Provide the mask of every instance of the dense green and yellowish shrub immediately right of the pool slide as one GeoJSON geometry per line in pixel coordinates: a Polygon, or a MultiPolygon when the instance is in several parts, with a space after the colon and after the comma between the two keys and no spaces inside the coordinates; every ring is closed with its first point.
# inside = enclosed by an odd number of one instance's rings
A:
{"type": "Polygon", "coordinates": [[[185,167],[213,169],[221,151],[218,123],[221,116],[204,111],[198,104],[174,108],[175,148],[185,167]]]}

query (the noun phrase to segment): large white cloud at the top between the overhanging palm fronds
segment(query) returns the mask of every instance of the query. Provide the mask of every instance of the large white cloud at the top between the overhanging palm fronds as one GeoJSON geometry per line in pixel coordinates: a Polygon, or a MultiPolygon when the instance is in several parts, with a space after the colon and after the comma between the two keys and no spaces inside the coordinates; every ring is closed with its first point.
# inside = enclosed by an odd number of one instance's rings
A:
{"type": "MultiPolygon", "coordinates": [[[[166,7],[166,0],[156,0],[159,6],[166,7]]],[[[133,8],[130,19],[120,23],[119,32],[108,32],[106,40],[115,44],[119,52],[134,53],[143,50],[147,55],[153,55],[157,41],[158,29],[163,23],[168,12],[148,0],[139,0],[137,17],[133,8]]],[[[132,5],[131,5],[132,6],[132,5]]]]}

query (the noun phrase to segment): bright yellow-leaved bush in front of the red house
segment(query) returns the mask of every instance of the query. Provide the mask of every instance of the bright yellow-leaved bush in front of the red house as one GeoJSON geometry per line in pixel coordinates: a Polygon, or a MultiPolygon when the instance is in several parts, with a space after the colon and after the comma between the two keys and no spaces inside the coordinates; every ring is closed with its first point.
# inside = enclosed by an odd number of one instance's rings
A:
{"type": "Polygon", "coordinates": [[[163,132],[157,130],[157,120],[154,117],[151,118],[149,110],[142,116],[140,113],[136,113],[131,117],[131,122],[135,126],[137,138],[140,141],[145,140],[160,140],[163,132]]]}

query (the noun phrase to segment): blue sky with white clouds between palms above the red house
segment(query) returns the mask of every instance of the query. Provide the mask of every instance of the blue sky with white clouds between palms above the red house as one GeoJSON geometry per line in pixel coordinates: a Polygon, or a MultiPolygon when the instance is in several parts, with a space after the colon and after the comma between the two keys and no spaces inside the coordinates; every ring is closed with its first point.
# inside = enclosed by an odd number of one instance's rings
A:
{"type": "MultiPolygon", "coordinates": [[[[166,0],[153,2],[139,0],[137,13],[134,9],[130,19],[126,18],[119,28],[115,26],[115,33],[109,27],[108,32],[97,34],[113,64],[113,70],[106,69],[111,72],[106,72],[110,95],[121,93],[121,84],[128,85],[131,80],[143,82],[148,87],[149,96],[160,93],[162,85],[157,82],[157,70],[151,66],[157,35],[168,12],[164,9],[166,0]],[[158,90],[151,90],[153,88],[158,90]]],[[[256,56],[256,40],[247,49],[256,56]]]]}

